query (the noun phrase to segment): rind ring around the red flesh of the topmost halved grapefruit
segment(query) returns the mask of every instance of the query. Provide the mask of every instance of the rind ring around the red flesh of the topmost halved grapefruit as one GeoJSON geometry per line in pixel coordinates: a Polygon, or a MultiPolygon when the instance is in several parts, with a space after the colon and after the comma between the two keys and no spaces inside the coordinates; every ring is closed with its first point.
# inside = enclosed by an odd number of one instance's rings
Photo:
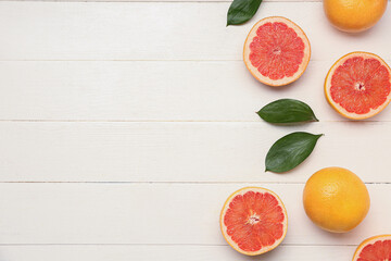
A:
{"type": "Polygon", "coordinates": [[[308,40],[308,37],[305,35],[304,30],[302,28],[300,28],[299,25],[297,25],[295,23],[293,23],[292,21],[290,21],[289,18],[282,17],[282,16],[269,16],[269,17],[265,17],[263,20],[260,20],[250,30],[249,35],[245,38],[244,41],[244,46],[243,46],[243,61],[245,64],[245,67],[249,70],[249,72],[251,73],[252,76],[254,76],[254,78],[256,78],[258,82],[261,82],[262,84],[272,86],[272,87],[280,87],[280,86],[286,86],[289,85],[293,82],[295,82],[297,79],[299,79],[303,73],[305,72],[308,63],[310,63],[310,59],[311,59],[311,44],[308,40]],[[249,48],[250,41],[252,40],[251,36],[252,33],[254,30],[256,30],[256,28],[262,24],[262,23],[267,23],[269,21],[281,21],[287,23],[289,26],[294,26],[294,28],[300,32],[301,37],[303,38],[303,41],[305,44],[305,46],[308,48],[308,52],[307,54],[304,57],[304,63],[300,66],[299,69],[299,74],[293,75],[292,77],[286,79],[286,80],[267,80],[265,77],[260,77],[256,73],[254,73],[254,71],[252,70],[252,64],[251,61],[247,58],[248,55],[248,51],[247,49],[249,48]]]}

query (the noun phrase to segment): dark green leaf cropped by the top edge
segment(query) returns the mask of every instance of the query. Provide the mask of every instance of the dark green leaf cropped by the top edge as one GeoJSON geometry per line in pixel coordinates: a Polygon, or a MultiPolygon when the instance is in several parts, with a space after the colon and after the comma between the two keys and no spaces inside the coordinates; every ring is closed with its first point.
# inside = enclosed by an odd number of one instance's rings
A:
{"type": "Polygon", "coordinates": [[[227,14],[227,26],[239,25],[254,16],[262,0],[234,0],[227,14]]]}

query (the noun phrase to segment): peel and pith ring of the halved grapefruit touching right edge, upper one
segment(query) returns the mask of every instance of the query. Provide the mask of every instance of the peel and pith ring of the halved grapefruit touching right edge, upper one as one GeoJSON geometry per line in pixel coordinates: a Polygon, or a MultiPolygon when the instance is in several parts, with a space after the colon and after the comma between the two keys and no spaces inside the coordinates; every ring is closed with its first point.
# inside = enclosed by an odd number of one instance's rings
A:
{"type": "MultiPolygon", "coordinates": [[[[384,108],[390,103],[391,99],[388,99],[388,101],[386,101],[381,107],[379,107],[376,111],[373,111],[370,113],[367,114],[355,114],[355,113],[350,113],[348,111],[345,111],[343,108],[341,108],[340,105],[336,104],[336,102],[332,101],[330,94],[328,91],[329,88],[329,83],[331,82],[331,77],[332,77],[332,73],[333,71],[343,63],[343,61],[351,57],[351,55],[364,55],[364,57],[371,57],[371,58],[376,58],[377,60],[379,60],[381,62],[382,65],[384,65],[389,72],[391,73],[391,69],[390,66],[384,62],[384,60],[382,60],[379,55],[376,55],[375,53],[370,53],[370,52],[363,52],[363,51],[356,51],[356,52],[350,52],[343,57],[341,57],[340,59],[338,59],[338,61],[331,66],[331,69],[328,71],[327,75],[326,75],[326,79],[325,79],[325,85],[324,85],[324,90],[325,90],[325,96],[326,96],[326,100],[328,101],[328,103],[342,116],[348,117],[350,120],[365,120],[365,119],[369,119],[373,117],[377,114],[379,114],[382,110],[384,110],[384,108]]],[[[390,94],[391,96],[391,94],[390,94]]]]}

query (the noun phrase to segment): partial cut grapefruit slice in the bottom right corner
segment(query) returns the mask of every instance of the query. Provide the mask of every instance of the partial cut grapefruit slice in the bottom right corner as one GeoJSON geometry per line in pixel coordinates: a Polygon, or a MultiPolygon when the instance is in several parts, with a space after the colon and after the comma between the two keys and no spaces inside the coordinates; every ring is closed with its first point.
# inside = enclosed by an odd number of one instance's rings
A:
{"type": "Polygon", "coordinates": [[[387,260],[391,260],[391,235],[374,236],[364,240],[353,256],[353,261],[387,260]]]}

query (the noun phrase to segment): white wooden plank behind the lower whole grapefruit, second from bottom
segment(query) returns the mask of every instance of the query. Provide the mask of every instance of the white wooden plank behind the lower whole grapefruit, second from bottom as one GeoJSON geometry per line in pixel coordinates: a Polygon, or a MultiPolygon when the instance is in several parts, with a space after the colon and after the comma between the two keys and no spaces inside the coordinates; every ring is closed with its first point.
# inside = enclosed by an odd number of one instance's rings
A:
{"type": "Polygon", "coordinates": [[[225,246],[220,208],[248,185],[281,197],[289,215],[285,245],[357,245],[391,229],[391,210],[384,208],[390,184],[367,185],[368,216],[343,235],[324,232],[306,217],[304,184],[0,184],[0,244],[225,246]]]}

